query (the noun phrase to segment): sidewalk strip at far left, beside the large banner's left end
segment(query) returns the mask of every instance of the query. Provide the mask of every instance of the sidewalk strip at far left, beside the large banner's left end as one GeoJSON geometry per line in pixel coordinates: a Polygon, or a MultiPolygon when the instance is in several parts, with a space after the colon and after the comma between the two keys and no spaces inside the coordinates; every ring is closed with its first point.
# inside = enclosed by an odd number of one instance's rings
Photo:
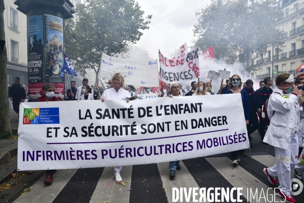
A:
{"type": "MultiPolygon", "coordinates": [[[[13,134],[18,132],[18,114],[10,110],[11,129],[13,134]]],[[[11,173],[17,168],[17,140],[0,140],[0,183],[11,178],[11,173]]]]}

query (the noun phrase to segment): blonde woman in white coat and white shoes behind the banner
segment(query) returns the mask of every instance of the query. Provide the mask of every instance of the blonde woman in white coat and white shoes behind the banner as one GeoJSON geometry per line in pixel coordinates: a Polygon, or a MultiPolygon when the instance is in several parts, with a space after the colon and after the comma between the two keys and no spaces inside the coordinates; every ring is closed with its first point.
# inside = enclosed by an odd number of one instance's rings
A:
{"type": "MultiPolygon", "coordinates": [[[[131,97],[131,94],[129,91],[124,90],[122,87],[125,83],[125,78],[121,73],[115,73],[113,74],[113,77],[111,79],[113,83],[113,88],[109,88],[104,90],[104,92],[101,95],[100,100],[103,102],[104,100],[126,100],[127,103],[129,103],[129,98],[131,97]]],[[[123,181],[120,172],[122,171],[123,166],[114,166],[114,176],[116,182],[123,181]]]]}

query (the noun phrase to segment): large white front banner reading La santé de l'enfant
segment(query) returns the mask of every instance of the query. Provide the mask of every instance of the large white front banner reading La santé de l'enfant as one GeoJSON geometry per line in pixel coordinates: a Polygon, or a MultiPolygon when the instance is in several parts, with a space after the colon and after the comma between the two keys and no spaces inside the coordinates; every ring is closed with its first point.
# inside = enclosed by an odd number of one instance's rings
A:
{"type": "Polygon", "coordinates": [[[241,94],[21,103],[18,134],[18,171],[158,163],[249,146],[241,94]]]}

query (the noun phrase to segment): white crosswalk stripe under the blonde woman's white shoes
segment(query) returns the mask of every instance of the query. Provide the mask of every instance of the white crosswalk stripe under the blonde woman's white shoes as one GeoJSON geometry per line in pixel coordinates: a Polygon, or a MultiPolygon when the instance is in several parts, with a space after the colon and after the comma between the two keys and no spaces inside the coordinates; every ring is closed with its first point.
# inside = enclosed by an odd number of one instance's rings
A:
{"type": "Polygon", "coordinates": [[[124,166],[120,174],[126,182],[126,186],[116,184],[113,167],[105,167],[91,197],[90,203],[105,201],[129,203],[130,192],[127,190],[130,190],[131,186],[132,165],[124,166]],[[111,185],[108,185],[108,183],[111,185]]]}

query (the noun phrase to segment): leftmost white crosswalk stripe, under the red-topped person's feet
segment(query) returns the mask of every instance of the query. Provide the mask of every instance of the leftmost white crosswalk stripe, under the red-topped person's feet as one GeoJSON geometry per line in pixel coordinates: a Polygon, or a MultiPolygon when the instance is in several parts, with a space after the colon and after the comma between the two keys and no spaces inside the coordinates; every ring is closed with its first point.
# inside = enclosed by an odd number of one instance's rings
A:
{"type": "Polygon", "coordinates": [[[46,177],[43,176],[30,187],[29,192],[24,192],[24,194],[18,197],[14,202],[51,203],[76,171],[77,169],[57,170],[53,175],[54,182],[51,186],[46,186],[44,184],[46,177]]]}

